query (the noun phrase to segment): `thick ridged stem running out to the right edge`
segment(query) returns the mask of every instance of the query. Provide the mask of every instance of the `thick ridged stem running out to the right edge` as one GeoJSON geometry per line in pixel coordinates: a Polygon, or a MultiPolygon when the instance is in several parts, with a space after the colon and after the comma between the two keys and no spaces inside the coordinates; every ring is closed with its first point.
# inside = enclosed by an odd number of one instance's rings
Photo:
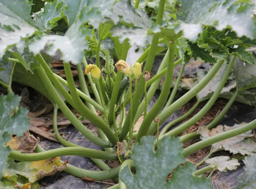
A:
{"type": "Polygon", "coordinates": [[[230,131],[226,131],[224,133],[215,135],[213,137],[209,137],[208,139],[201,140],[201,141],[199,141],[195,144],[192,144],[189,147],[185,148],[183,150],[182,154],[186,157],[186,156],[194,153],[195,151],[198,151],[198,150],[200,150],[202,148],[205,148],[209,145],[220,142],[221,140],[226,140],[226,139],[231,138],[231,137],[236,137],[237,135],[243,134],[247,131],[250,131],[255,127],[256,127],[256,119],[253,120],[250,123],[247,123],[246,125],[243,125],[240,128],[236,128],[236,129],[233,129],[233,130],[230,130],[230,131]]]}

